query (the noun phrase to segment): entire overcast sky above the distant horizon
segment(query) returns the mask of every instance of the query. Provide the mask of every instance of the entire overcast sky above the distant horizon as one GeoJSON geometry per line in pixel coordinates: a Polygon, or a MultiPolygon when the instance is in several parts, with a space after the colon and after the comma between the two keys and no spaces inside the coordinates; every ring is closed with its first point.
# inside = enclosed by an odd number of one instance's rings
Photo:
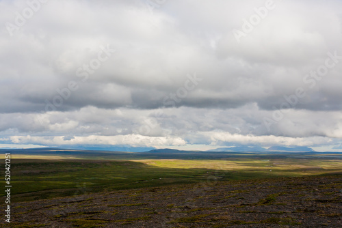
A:
{"type": "Polygon", "coordinates": [[[342,1],[0,1],[0,147],[342,151],[342,1]]]}

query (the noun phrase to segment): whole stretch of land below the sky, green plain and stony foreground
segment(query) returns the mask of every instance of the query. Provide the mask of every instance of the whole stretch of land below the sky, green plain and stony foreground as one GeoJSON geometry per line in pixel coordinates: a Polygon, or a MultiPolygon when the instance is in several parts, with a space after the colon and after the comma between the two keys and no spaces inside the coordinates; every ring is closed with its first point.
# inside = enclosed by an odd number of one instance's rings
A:
{"type": "Polygon", "coordinates": [[[54,153],[12,153],[11,227],[342,225],[340,154],[54,153]]]}

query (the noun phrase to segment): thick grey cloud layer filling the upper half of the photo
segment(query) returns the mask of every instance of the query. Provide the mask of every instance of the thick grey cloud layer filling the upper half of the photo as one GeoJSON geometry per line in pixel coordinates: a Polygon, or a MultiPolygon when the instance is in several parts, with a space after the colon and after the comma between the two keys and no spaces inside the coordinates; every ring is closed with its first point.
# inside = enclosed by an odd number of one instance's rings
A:
{"type": "MultiPolygon", "coordinates": [[[[126,5],[122,1],[116,3],[118,5],[103,2],[94,8],[94,12],[90,10],[91,3],[50,3],[25,26],[25,33],[18,32],[20,39],[18,36],[14,40],[4,37],[9,46],[2,59],[9,63],[6,65],[10,69],[16,69],[16,77],[13,78],[13,73],[5,77],[16,81],[22,78],[36,80],[36,83],[16,84],[21,91],[19,97],[17,91],[6,92],[14,100],[11,104],[2,105],[3,112],[44,111],[45,100],[58,96],[55,89],[62,89],[68,81],[79,80],[75,76],[77,68],[96,56],[98,46],[106,42],[110,42],[117,52],[90,75],[89,80],[58,110],[88,105],[108,109],[120,106],[155,109],[163,106],[160,101],[179,89],[185,74],[191,72],[197,72],[205,79],[196,88],[202,92],[196,94],[194,91],[192,95],[197,96],[189,95],[176,106],[233,108],[257,102],[261,108],[269,110],[281,104],[283,95],[302,85],[302,77],[307,73],[304,68],[310,69],[315,66],[313,61],[324,59],[326,51],[330,51],[328,46],[341,50],[334,29],[317,26],[317,18],[306,20],[306,17],[313,18],[314,15],[300,4],[291,20],[283,19],[294,3],[279,6],[276,9],[278,14],[270,14],[269,20],[263,21],[244,42],[237,45],[231,31],[239,23],[233,19],[241,20],[250,15],[246,4],[235,3],[234,7],[241,11],[240,14],[234,12],[226,16],[232,3],[209,4],[209,8],[204,2],[196,5],[191,1],[185,5],[168,3],[163,5],[165,10],[160,10],[159,14],[173,16],[173,23],[166,21],[163,27],[155,28],[148,21],[140,21],[149,14],[146,9],[126,5]],[[66,9],[66,17],[60,18],[51,11],[56,8],[66,9]],[[75,8],[78,9],[76,16],[75,8]],[[177,9],[180,12],[175,17],[172,12],[177,9]],[[211,11],[217,15],[209,17],[211,11]],[[189,14],[192,19],[187,21],[185,17],[189,14]],[[114,20],[113,15],[121,20],[114,20]],[[144,32],[141,27],[144,27],[144,32]],[[11,65],[14,58],[19,68],[11,65]],[[118,96],[114,96],[114,91],[102,89],[108,83],[122,86],[122,89],[115,89],[119,90],[118,94],[123,94],[121,100],[116,99],[118,96]],[[27,105],[17,102],[27,102],[27,105]]],[[[315,8],[319,7],[321,5],[315,5],[315,8]]],[[[326,10],[331,8],[322,9],[323,12],[326,10]]],[[[337,25],[335,18],[326,15],[319,19],[321,23],[329,23],[330,27],[337,25]]],[[[5,67],[3,71],[9,72],[9,68],[5,67]]],[[[330,78],[337,79],[337,76],[335,73],[330,78]]],[[[330,90],[330,86],[326,88],[330,90]]],[[[340,95],[341,92],[337,91],[337,96],[340,95]]],[[[319,109],[320,105],[316,104],[321,98],[294,108],[319,109]]],[[[337,100],[326,98],[326,103],[332,104],[321,106],[322,109],[341,108],[341,104],[336,104],[337,100]]]]}

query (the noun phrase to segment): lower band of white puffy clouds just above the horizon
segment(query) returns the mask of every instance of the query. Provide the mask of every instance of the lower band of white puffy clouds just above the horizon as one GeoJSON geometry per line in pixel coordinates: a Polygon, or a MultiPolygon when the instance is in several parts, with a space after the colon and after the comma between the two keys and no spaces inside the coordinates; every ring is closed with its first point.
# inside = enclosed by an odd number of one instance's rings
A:
{"type": "Polygon", "coordinates": [[[3,140],[42,145],[324,145],[341,139],[339,111],[291,110],[270,131],[264,126],[266,115],[272,115],[271,111],[261,110],[257,104],[226,110],[180,107],[133,111],[88,106],[68,112],[2,114],[0,129],[3,140]],[[12,119],[16,125],[10,125],[12,119]]]}

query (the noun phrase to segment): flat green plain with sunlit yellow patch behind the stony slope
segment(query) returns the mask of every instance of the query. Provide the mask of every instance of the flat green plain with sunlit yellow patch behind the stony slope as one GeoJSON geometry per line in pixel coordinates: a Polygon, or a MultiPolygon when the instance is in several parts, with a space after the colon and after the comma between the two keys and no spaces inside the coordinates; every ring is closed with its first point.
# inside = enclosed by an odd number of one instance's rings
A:
{"type": "Polygon", "coordinates": [[[12,200],[16,202],[169,184],[341,174],[342,162],[315,156],[62,160],[57,156],[18,155],[12,158],[11,172],[12,200]]]}

